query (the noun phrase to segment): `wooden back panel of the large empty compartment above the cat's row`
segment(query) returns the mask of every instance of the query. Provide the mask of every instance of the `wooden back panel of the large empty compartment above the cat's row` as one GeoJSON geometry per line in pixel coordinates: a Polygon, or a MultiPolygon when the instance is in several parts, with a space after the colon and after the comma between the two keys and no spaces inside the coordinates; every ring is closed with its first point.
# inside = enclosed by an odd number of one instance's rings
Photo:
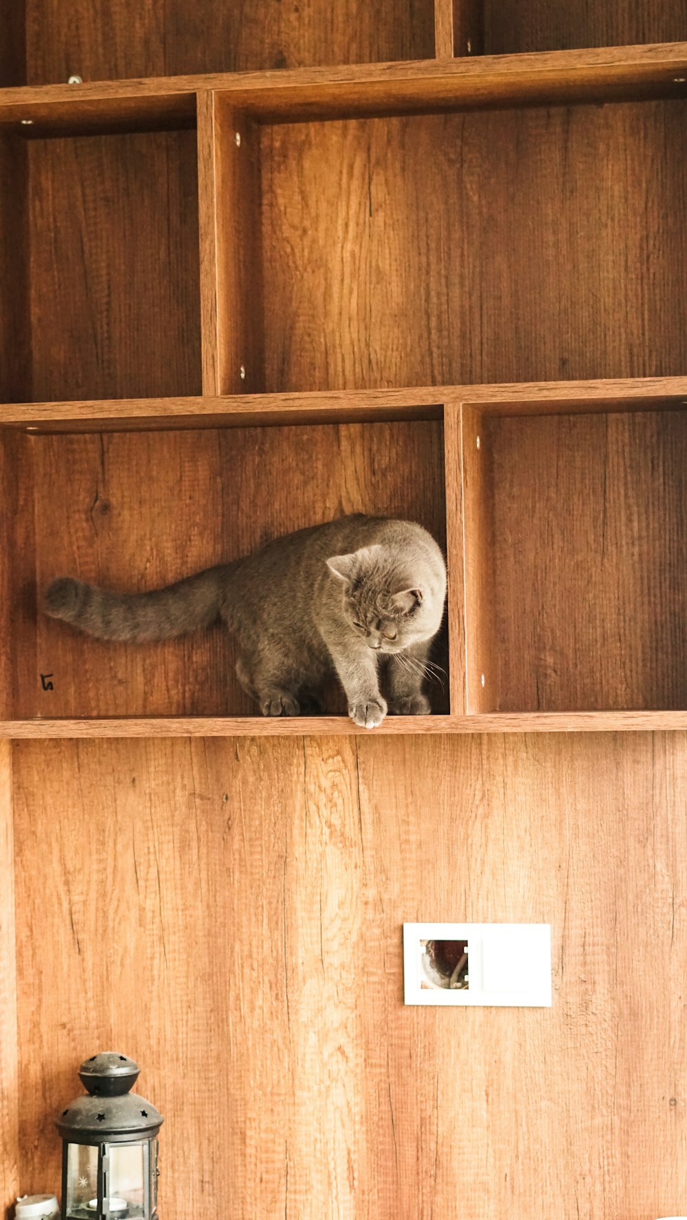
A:
{"type": "Polygon", "coordinates": [[[264,128],[266,388],[683,373],[683,118],[264,128]]]}

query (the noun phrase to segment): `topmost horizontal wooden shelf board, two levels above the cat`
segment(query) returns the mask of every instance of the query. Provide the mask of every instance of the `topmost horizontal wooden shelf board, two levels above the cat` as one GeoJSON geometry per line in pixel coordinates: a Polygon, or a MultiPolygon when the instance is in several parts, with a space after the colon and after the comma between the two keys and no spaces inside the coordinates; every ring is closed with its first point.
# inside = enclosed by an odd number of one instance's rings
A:
{"type": "MultiPolygon", "coordinates": [[[[602,46],[516,55],[411,60],[340,67],[267,70],[99,81],[0,89],[0,124],[33,121],[32,135],[137,117],[193,122],[194,94],[232,94],[232,105],[265,122],[494,104],[685,96],[687,43],[602,46]],[[676,79],[677,78],[677,79],[676,79]],[[658,94],[656,94],[658,90],[658,94]]],[[[23,133],[26,134],[26,132],[23,133]]]]}

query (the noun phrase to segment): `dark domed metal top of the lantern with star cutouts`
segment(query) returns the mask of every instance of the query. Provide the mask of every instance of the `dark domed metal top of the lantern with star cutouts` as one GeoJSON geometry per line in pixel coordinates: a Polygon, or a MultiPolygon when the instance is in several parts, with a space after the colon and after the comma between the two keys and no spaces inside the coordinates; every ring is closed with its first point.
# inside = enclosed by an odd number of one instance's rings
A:
{"type": "Polygon", "coordinates": [[[138,1074],[133,1059],[113,1050],[87,1059],[79,1068],[79,1077],[88,1092],[71,1102],[56,1119],[62,1139],[85,1144],[127,1143],[156,1136],[162,1115],[151,1102],[129,1092],[138,1074]]]}

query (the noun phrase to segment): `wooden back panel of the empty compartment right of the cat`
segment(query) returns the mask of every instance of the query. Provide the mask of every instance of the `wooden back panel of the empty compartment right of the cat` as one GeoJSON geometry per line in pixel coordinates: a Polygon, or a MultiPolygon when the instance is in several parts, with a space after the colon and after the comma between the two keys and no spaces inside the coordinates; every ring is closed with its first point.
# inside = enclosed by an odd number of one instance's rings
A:
{"type": "Polygon", "coordinates": [[[481,664],[497,681],[482,710],[686,708],[687,417],[484,422],[473,527],[493,543],[481,664]]]}

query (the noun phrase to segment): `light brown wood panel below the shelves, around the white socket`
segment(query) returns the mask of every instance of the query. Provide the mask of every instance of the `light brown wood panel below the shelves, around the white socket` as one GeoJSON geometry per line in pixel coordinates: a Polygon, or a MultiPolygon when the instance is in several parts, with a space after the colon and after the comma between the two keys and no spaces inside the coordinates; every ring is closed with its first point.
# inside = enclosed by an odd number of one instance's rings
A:
{"type": "Polygon", "coordinates": [[[687,734],[13,754],[27,1180],[115,1046],[170,1220],[678,1214],[687,734]],[[404,1008],[417,919],[550,922],[553,1008],[404,1008]]]}

